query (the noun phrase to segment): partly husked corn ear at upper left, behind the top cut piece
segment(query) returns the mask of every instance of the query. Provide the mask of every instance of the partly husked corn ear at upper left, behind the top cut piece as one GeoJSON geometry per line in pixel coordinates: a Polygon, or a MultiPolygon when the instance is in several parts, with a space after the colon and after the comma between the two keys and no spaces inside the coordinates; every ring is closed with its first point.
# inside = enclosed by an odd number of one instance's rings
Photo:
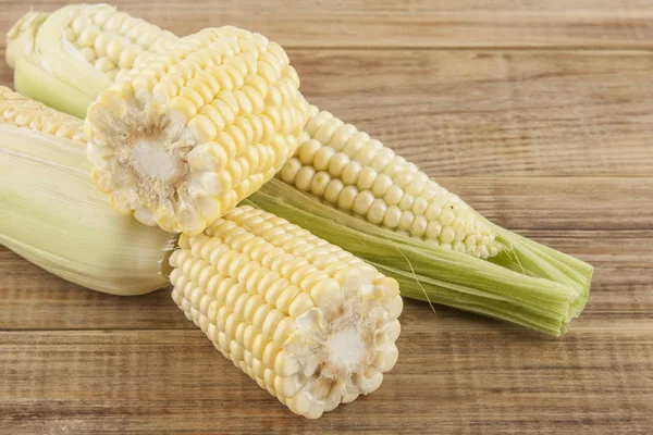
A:
{"type": "Polygon", "coordinates": [[[7,34],[7,62],[21,94],[73,114],[158,49],[178,38],[108,4],[29,12],[7,34]],[[121,74],[119,74],[121,73],[121,74]]]}

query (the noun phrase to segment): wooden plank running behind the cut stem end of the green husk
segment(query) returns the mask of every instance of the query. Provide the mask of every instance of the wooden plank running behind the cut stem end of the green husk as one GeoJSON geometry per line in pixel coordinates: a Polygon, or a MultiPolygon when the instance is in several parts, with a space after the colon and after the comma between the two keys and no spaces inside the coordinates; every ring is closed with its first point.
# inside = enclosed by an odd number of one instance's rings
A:
{"type": "MultiPolygon", "coordinates": [[[[653,312],[653,232],[525,231],[525,236],[577,256],[594,265],[590,300],[571,330],[595,322],[619,327],[623,322],[649,320],[653,312]],[[614,322],[614,323],[613,323],[614,322]]],[[[170,289],[146,296],[116,297],[66,283],[13,252],[0,248],[0,330],[193,330],[170,298],[170,289]]],[[[430,313],[426,303],[407,306],[411,312],[430,313]]],[[[480,316],[442,307],[445,322],[485,327],[480,316]]],[[[500,324],[502,328],[520,327],[500,324]]],[[[438,327],[446,327],[438,325],[438,327]]]]}

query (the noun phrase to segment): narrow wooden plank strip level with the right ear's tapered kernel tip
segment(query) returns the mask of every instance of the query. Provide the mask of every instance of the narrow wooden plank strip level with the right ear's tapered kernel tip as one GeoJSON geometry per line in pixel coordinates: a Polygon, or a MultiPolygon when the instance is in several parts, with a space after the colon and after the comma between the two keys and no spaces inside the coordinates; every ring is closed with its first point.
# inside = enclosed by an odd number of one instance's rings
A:
{"type": "Polygon", "coordinates": [[[653,177],[438,181],[491,221],[514,231],[653,229],[653,177]]]}

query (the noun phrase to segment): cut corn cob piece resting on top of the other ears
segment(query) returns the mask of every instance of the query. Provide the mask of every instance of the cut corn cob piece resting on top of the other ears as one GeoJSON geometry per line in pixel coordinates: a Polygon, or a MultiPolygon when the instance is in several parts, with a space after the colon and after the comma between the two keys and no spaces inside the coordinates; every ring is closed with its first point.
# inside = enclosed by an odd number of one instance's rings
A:
{"type": "Polygon", "coordinates": [[[90,105],[93,178],[119,211],[199,234],[293,156],[307,120],[298,87],[283,49],[261,35],[182,38],[90,105]]]}

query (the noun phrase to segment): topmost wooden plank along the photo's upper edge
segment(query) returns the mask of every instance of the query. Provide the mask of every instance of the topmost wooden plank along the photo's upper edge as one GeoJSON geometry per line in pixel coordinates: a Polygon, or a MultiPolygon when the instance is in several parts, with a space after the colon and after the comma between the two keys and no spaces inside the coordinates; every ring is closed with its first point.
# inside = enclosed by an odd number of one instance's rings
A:
{"type": "MultiPolygon", "coordinates": [[[[360,1],[147,3],[116,0],[120,9],[180,35],[232,24],[287,47],[653,47],[653,5],[617,1],[360,1]]],[[[35,0],[35,10],[61,7],[35,0]]],[[[3,1],[0,27],[28,7],[3,1]]]]}

